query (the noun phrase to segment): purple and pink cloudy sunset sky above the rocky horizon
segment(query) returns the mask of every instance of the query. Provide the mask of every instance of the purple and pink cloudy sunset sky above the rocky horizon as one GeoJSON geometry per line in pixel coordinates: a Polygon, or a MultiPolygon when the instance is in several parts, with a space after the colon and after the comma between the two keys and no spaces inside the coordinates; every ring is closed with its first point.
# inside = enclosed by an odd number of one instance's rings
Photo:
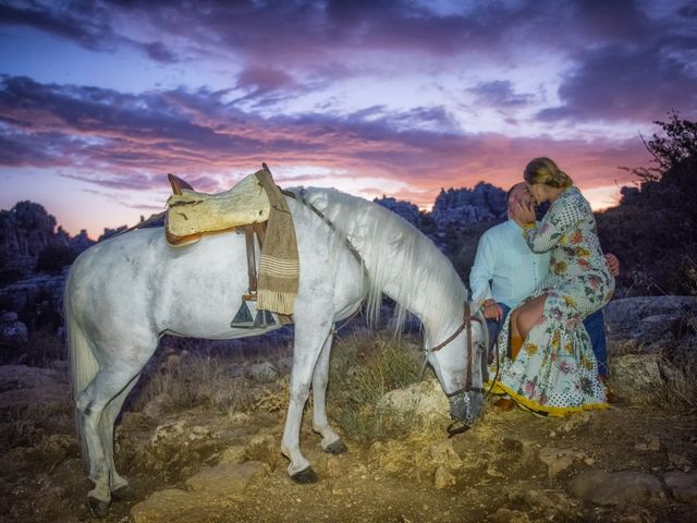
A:
{"type": "Polygon", "coordinates": [[[543,155],[601,208],[673,109],[697,119],[695,1],[0,0],[0,208],[91,238],[163,210],[168,172],[262,161],[428,208],[543,155]]]}

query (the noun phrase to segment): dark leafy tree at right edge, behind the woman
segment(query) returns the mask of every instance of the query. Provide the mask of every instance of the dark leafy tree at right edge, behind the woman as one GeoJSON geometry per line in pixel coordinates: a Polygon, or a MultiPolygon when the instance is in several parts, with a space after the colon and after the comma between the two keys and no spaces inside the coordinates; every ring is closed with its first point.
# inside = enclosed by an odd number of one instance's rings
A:
{"type": "Polygon", "coordinates": [[[695,292],[697,123],[669,115],[655,122],[660,135],[641,138],[651,165],[625,168],[639,178],[638,187],[623,187],[620,206],[597,216],[603,248],[622,262],[619,283],[632,293],[695,292]]]}

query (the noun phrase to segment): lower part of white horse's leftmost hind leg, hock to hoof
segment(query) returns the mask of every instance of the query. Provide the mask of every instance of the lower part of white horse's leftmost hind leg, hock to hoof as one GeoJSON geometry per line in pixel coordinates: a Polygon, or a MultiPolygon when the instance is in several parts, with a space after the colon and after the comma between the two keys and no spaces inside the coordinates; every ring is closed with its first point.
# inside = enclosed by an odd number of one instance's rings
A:
{"type": "Polygon", "coordinates": [[[102,434],[113,430],[115,415],[109,415],[107,419],[102,421],[105,408],[127,388],[139,370],[140,368],[124,374],[123,372],[114,373],[108,369],[100,369],[75,401],[76,408],[81,413],[81,423],[87,443],[89,478],[95,484],[95,488],[87,495],[89,508],[97,516],[106,515],[111,502],[110,481],[113,448],[107,450],[106,446],[113,443],[113,435],[102,438],[102,434]],[[102,423],[103,425],[101,425],[102,423]],[[103,431],[100,430],[100,425],[103,431]],[[108,430],[109,426],[111,427],[110,430],[108,430]]]}

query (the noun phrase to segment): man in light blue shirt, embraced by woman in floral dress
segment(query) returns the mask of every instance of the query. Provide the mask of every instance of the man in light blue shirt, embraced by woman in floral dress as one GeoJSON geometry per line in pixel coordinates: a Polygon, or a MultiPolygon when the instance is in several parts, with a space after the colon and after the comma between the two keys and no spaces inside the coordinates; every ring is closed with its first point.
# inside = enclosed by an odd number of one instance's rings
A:
{"type": "MultiPolygon", "coordinates": [[[[491,340],[497,339],[509,312],[533,294],[549,272],[550,253],[534,253],[528,247],[523,236],[524,221],[517,216],[521,207],[511,205],[514,200],[525,207],[534,205],[525,183],[518,183],[509,191],[509,219],[482,234],[469,272],[473,301],[481,303],[491,340]]],[[[606,260],[610,271],[616,276],[620,269],[617,258],[608,254],[606,260]]],[[[602,309],[587,316],[584,325],[598,360],[598,374],[604,381],[608,352],[602,309]]]]}

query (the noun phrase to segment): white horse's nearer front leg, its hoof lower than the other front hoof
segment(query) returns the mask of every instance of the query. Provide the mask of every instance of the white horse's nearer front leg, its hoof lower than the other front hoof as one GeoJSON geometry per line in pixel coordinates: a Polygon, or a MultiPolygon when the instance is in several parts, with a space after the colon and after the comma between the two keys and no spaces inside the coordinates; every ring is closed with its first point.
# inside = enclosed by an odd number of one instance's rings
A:
{"type": "Polygon", "coordinates": [[[317,364],[317,358],[329,337],[330,324],[311,326],[295,324],[295,349],[293,352],[293,369],[291,370],[291,398],[285,416],[281,452],[291,460],[289,475],[298,483],[315,483],[318,477],[309,461],[301,452],[301,424],[303,409],[309,396],[309,386],[317,364]]]}

